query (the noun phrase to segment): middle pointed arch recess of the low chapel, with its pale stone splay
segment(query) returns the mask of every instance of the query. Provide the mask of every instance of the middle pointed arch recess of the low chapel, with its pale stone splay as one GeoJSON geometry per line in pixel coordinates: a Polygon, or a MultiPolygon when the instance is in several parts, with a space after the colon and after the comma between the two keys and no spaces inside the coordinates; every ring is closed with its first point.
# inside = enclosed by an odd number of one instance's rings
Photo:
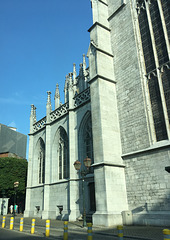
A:
{"type": "Polygon", "coordinates": [[[68,136],[63,127],[56,131],[52,145],[52,181],[69,178],[68,136]]]}

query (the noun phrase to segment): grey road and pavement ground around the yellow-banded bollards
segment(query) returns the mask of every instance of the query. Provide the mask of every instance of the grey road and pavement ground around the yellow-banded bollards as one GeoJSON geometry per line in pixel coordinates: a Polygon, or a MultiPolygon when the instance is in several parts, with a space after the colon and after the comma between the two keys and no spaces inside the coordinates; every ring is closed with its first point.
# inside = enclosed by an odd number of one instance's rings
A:
{"type": "MultiPolygon", "coordinates": [[[[50,237],[45,237],[45,223],[43,219],[36,219],[35,234],[30,234],[31,218],[24,219],[23,232],[19,232],[20,216],[16,216],[14,221],[14,230],[10,230],[10,216],[6,216],[5,229],[1,228],[0,224],[0,240],[63,240],[63,222],[51,220],[50,222],[50,237]]],[[[0,215],[0,222],[2,216],[0,215]]],[[[167,227],[166,227],[167,228],[167,227]]],[[[125,226],[124,240],[163,240],[163,227],[151,226],[125,226]]],[[[87,240],[87,229],[82,228],[80,222],[69,222],[68,224],[68,239],[69,240],[87,240]]],[[[118,240],[117,230],[115,228],[93,228],[93,240],[118,240]]]]}

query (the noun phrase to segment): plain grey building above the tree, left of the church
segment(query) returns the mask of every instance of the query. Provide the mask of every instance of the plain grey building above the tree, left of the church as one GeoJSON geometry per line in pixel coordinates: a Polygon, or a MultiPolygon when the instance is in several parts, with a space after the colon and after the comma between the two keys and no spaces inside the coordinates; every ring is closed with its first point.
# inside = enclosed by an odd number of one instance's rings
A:
{"type": "Polygon", "coordinates": [[[27,136],[0,123],[0,157],[26,158],[27,136]]]}

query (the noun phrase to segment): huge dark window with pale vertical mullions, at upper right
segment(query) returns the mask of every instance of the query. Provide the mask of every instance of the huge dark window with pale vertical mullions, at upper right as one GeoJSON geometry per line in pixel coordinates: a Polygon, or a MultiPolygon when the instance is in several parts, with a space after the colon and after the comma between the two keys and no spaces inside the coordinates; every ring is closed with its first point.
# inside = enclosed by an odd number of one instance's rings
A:
{"type": "Polygon", "coordinates": [[[168,0],[137,0],[156,141],[170,138],[170,4],[168,0]]]}

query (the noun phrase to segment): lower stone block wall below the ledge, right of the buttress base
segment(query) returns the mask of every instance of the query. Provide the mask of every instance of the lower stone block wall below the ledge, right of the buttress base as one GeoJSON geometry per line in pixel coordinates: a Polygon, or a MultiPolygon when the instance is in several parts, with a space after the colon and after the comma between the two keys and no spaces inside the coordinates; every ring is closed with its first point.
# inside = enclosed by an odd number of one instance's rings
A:
{"type": "Polygon", "coordinates": [[[124,157],[129,209],[134,223],[170,224],[169,147],[124,157]]]}

